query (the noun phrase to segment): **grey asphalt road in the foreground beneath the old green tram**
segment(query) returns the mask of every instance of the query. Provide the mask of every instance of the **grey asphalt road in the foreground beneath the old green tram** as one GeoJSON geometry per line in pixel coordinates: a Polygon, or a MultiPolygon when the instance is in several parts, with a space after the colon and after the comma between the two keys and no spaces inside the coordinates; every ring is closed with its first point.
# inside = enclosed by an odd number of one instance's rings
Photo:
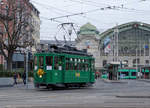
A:
{"type": "Polygon", "coordinates": [[[0,108],[150,108],[150,82],[98,79],[93,87],[47,90],[23,84],[0,88],[0,108]]]}

